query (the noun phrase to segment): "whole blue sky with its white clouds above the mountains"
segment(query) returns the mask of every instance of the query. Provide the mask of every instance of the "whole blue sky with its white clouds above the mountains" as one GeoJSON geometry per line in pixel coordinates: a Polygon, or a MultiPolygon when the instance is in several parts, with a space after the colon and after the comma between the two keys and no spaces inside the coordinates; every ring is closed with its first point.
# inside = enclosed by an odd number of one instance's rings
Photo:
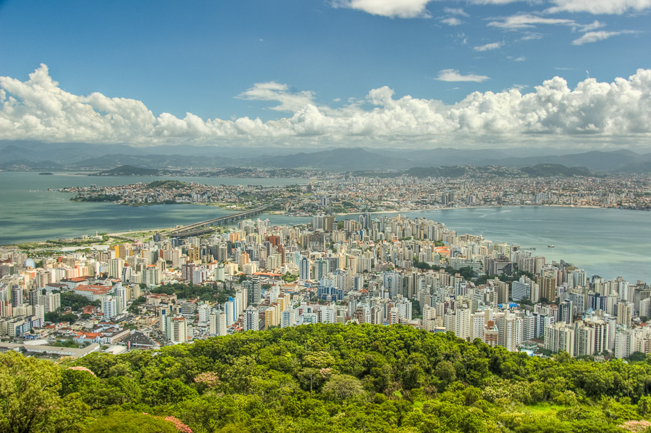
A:
{"type": "Polygon", "coordinates": [[[0,139],[651,150],[651,0],[0,0],[0,139]]]}

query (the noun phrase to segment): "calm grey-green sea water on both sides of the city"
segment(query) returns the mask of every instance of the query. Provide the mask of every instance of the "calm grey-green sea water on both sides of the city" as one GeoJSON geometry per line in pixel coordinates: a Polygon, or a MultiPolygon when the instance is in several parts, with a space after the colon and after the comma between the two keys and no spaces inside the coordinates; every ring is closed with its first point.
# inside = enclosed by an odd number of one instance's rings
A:
{"type": "MultiPolygon", "coordinates": [[[[0,245],[140,229],[163,229],[226,215],[215,206],[158,204],[117,206],[71,202],[73,194],[47,191],[65,186],[126,185],[157,179],[179,179],[212,185],[306,184],[307,179],[242,179],[224,177],[86,177],[71,173],[0,172],[0,245]]],[[[393,214],[389,214],[393,215],[393,214]]],[[[494,242],[535,248],[548,261],[564,259],[589,275],[651,283],[651,212],[618,209],[503,207],[409,212],[443,222],[458,234],[481,234],[494,242]],[[548,245],[554,245],[549,248],[548,245]]],[[[262,214],[274,224],[308,222],[262,214]]],[[[344,219],[343,217],[339,217],[344,219]]],[[[356,218],[356,217],[353,217],[356,218]]]]}

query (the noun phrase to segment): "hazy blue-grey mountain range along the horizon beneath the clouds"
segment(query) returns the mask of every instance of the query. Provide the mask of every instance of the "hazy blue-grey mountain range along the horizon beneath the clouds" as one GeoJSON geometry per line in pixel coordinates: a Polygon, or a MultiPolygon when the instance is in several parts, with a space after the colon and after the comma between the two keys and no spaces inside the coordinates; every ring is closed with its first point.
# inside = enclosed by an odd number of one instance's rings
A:
{"type": "Polygon", "coordinates": [[[651,153],[631,150],[569,153],[541,149],[454,148],[218,148],[89,143],[0,141],[1,170],[106,170],[130,165],[140,168],[200,169],[224,167],[307,168],[332,171],[408,170],[416,167],[504,166],[524,168],[553,164],[598,173],[651,173],[651,153]],[[529,156],[526,156],[529,155],[529,156]]]}

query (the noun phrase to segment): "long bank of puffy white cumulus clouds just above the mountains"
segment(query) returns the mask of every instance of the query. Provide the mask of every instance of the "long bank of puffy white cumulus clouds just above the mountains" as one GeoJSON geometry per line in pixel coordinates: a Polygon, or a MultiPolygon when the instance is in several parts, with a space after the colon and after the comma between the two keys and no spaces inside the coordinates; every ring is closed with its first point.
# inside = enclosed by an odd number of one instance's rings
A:
{"type": "Polygon", "coordinates": [[[609,142],[634,137],[638,143],[651,138],[651,70],[644,69],[614,82],[589,78],[574,89],[554,77],[527,94],[518,89],[475,91],[454,105],[411,96],[395,98],[386,86],[337,109],[316,105],[310,91],[292,93],[276,82],[258,83],[238,97],[278,103],[273,108],[289,115],[266,122],[249,117],[204,120],[191,113],[184,118],[168,113],[155,116],[139,100],[70,94],[41,65],[24,82],[0,77],[0,136],[132,145],[455,147],[490,141],[522,145],[532,137],[554,145],[588,137],[609,142]]]}

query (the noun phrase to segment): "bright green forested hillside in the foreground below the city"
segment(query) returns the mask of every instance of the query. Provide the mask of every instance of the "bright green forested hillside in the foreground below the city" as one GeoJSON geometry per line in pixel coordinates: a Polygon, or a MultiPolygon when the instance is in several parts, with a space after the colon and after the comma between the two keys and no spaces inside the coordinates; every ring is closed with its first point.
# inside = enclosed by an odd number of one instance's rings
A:
{"type": "Polygon", "coordinates": [[[0,431],[643,431],[650,390],[646,359],[541,359],[405,326],[319,324],[58,365],[0,355],[0,431]]]}

